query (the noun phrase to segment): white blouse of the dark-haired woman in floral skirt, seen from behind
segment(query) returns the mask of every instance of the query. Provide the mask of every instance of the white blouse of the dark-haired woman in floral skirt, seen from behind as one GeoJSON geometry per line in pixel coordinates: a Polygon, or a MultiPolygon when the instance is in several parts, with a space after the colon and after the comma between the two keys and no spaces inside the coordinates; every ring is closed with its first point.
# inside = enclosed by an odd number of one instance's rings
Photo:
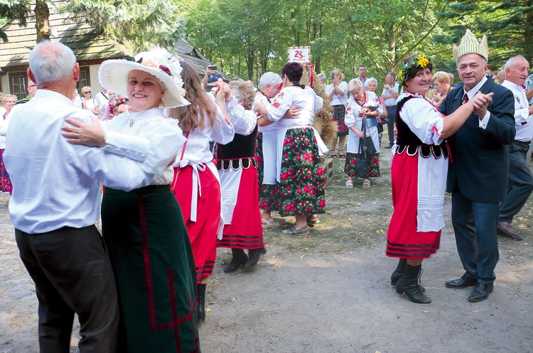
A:
{"type": "Polygon", "coordinates": [[[277,122],[280,127],[313,126],[315,112],[322,109],[323,100],[316,95],[313,88],[306,86],[286,87],[281,90],[271,104],[266,105],[269,120],[277,122]],[[290,107],[298,107],[300,115],[297,118],[283,117],[290,107]]]}

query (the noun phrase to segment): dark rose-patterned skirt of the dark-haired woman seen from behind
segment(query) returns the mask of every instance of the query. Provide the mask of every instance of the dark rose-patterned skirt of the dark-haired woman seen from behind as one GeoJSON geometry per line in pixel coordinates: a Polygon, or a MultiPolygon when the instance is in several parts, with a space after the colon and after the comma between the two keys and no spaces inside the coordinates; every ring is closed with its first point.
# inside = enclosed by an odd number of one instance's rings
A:
{"type": "Polygon", "coordinates": [[[287,130],[281,153],[279,215],[323,214],[324,174],[313,129],[287,130]]]}

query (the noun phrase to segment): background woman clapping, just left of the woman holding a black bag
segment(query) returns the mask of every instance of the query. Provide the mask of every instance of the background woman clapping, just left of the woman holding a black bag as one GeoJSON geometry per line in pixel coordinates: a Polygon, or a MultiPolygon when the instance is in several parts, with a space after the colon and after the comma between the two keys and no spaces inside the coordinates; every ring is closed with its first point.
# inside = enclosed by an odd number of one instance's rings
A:
{"type": "MultiPolygon", "coordinates": [[[[348,127],[344,121],[344,113],[346,102],[348,101],[348,83],[344,81],[344,75],[339,69],[331,72],[331,85],[325,87],[325,94],[328,95],[330,105],[333,107],[333,120],[337,122],[339,130],[337,136],[339,138],[339,157],[344,158],[344,144],[346,136],[348,136],[348,127]]],[[[331,144],[331,157],[336,158],[335,146],[337,139],[331,144]]]]}

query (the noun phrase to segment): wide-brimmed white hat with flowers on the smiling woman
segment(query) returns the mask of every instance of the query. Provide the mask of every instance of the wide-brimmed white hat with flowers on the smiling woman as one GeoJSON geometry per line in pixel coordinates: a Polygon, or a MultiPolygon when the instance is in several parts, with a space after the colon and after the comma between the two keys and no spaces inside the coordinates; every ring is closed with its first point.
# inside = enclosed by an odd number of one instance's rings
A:
{"type": "Polygon", "coordinates": [[[114,93],[128,95],[127,84],[131,70],[141,70],[156,77],[166,88],[162,107],[181,107],[190,103],[181,95],[181,65],[179,60],[161,48],[144,51],[135,56],[135,61],[126,59],[106,60],[100,65],[100,85],[114,93]]]}

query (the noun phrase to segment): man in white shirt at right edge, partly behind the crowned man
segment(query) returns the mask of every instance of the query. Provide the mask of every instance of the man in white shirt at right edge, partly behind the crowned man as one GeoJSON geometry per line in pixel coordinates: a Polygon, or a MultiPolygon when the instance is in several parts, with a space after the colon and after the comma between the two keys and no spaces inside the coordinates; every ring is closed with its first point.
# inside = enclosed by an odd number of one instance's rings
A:
{"type": "Polygon", "coordinates": [[[497,233],[515,241],[522,236],[512,228],[515,214],[522,209],[533,191],[533,174],[526,162],[527,149],[533,137],[533,105],[529,107],[524,83],[527,79],[529,63],[523,56],[514,56],[505,63],[505,81],[502,86],[515,96],[515,141],[509,150],[509,187],[507,198],[500,204],[500,217],[497,233]]]}

